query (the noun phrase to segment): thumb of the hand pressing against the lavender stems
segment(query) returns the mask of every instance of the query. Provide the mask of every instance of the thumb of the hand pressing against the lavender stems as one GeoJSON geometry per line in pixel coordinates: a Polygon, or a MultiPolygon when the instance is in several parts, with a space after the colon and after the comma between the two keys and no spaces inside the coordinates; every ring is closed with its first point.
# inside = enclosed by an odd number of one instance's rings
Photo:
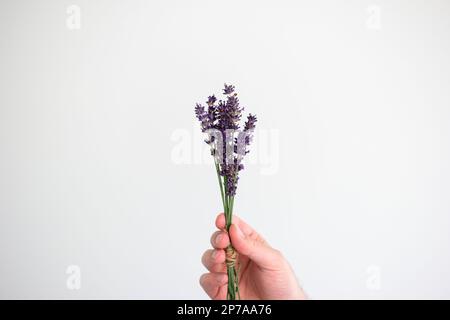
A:
{"type": "Polygon", "coordinates": [[[281,253],[270,247],[259,235],[244,234],[237,224],[230,226],[230,239],[239,254],[247,256],[261,268],[278,269],[283,258],[281,253]]]}

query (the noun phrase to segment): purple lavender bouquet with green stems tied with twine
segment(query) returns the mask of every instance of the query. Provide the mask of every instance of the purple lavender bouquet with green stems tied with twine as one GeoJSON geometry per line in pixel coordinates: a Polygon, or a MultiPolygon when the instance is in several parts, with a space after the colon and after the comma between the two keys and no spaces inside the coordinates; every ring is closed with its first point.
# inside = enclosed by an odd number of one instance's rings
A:
{"type": "MultiPolygon", "coordinates": [[[[209,96],[206,101],[207,108],[197,103],[195,115],[200,121],[202,132],[207,135],[205,142],[210,146],[214,158],[228,232],[233,219],[239,171],[244,169],[242,160],[249,152],[248,146],[255,129],[256,116],[249,114],[244,128],[240,130],[239,122],[244,108],[239,106],[234,86],[225,84],[223,94],[226,98],[218,101],[214,95],[209,96]]],[[[237,252],[232,244],[225,252],[228,274],[227,299],[236,300],[240,298],[237,252]]]]}

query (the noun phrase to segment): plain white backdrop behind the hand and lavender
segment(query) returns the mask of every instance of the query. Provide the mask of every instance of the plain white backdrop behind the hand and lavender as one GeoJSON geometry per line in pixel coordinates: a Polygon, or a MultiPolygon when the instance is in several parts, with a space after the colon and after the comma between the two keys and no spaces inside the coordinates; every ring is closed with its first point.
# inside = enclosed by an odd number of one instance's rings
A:
{"type": "MultiPolygon", "coordinates": [[[[0,298],[207,298],[195,102],[313,298],[450,298],[448,1],[1,1],[0,298]]],[[[202,149],[203,148],[203,149],[202,149]]]]}

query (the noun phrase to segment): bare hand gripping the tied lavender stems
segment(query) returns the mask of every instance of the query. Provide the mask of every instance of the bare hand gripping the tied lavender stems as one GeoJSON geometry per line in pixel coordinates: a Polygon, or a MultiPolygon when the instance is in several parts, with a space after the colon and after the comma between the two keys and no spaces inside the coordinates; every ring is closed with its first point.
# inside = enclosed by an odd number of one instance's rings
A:
{"type": "MultiPolygon", "coordinates": [[[[228,277],[225,266],[225,248],[233,243],[239,253],[239,290],[245,300],[305,299],[292,268],[280,251],[273,249],[252,227],[237,216],[229,234],[225,230],[225,216],[216,219],[219,229],[211,236],[213,249],[206,250],[202,263],[208,273],[200,277],[200,285],[214,300],[227,296],[228,277]]],[[[239,265],[238,264],[238,265],[239,265]]]]}

